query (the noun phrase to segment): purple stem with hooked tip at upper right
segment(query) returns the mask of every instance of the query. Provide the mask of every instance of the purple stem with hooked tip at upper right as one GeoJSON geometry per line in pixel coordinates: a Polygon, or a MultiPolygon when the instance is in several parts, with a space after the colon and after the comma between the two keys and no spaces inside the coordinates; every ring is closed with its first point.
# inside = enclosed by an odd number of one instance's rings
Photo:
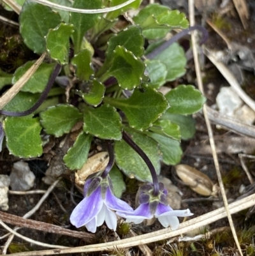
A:
{"type": "Polygon", "coordinates": [[[189,29],[184,29],[178,34],[175,34],[175,36],[171,37],[170,40],[166,41],[165,43],[163,43],[162,45],[157,47],[155,50],[153,50],[152,52],[147,54],[147,56],[145,56],[145,57],[147,59],[154,58],[155,56],[157,56],[158,54],[163,52],[163,50],[166,50],[168,47],[170,47],[171,44],[175,43],[175,41],[179,40],[183,36],[186,36],[186,34],[189,34],[193,30],[199,30],[199,31],[201,31],[201,33],[203,33],[203,38],[200,40],[200,45],[202,45],[203,43],[205,43],[205,41],[207,41],[207,39],[208,39],[207,29],[205,29],[205,27],[196,25],[193,27],[189,27],[189,29]]]}

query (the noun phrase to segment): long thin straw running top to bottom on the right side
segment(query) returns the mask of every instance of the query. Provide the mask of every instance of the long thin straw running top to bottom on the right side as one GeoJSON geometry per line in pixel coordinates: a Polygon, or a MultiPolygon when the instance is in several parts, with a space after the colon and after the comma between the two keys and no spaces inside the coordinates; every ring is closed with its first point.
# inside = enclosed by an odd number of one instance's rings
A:
{"type": "MultiPolygon", "coordinates": [[[[191,26],[195,25],[194,0],[189,0],[189,22],[190,22],[191,26]]],[[[197,77],[197,80],[198,80],[198,87],[199,87],[201,93],[204,94],[204,92],[203,92],[203,82],[202,82],[201,71],[200,71],[200,64],[199,64],[199,61],[198,61],[198,50],[196,48],[196,34],[191,33],[191,41],[192,41],[192,45],[193,45],[193,56],[194,56],[194,63],[195,63],[195,69],[196,69],[196,77],[197,77]]],[[[218,156],[217,156],[217,153],[216,153],[216,147],[215,147],[215,142],[214,142],[214,133],[212,132],[212,126],[211,126],[210,121],[208,119],[207,107],[205,105],[203,106],[203,114],[205,116],[205,123],[207,124],[210,146],[212,148],[212,156],[214,158],[214,165],[215,165],[217,178],[218,178],[218,181],[219,181],[219,187],[221,189],[222,199],[223,199],[223,202],[224,202],[224,206],[226,208],[226,214],[228,216],[228,222],[230,223],[230,228],[231,228],[233,237],[235,239],[235,243],[237,245],[238,251],[240,252],[240,255],[243,255],[242,249],[241,249],[239,241],[238,241],[237,232],[235,231],[235,227],[234,227],[234,224],[233,224],[233,219],[232,219],[232,216],[230,214],[230,209],[229,209],[229,206],[228,206],[228,199],[226,197],[224,184],[222,182],[221,171],[220,171],[220,168],[219,168],[218,156]]]]}

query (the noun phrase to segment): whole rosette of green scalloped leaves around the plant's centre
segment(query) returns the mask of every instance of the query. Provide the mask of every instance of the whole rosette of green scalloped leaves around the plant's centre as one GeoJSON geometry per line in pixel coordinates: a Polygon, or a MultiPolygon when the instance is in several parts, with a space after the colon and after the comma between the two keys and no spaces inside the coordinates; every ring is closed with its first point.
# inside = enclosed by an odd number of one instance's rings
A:
{"type": "MultiPolygon", "coordinates": [[[[26,118],[8,117],[4,120],[10,153],[20,157],[38,156],[42,153],[41,130],[61,137],[80,123],[77,139],[64,156],[69,169],[80,169],[84,165],[92,139],[97,137],[115,140],[117,167],[124,174],[140,181],[151,181],[149,169],[140,156],[122,140],[122,130],[126,130],[145,151],[157,173],[161,160],[166,164],[180,161],[180,139],[193,136],[191,114],[201,109],[205,98],[189,85],[178,86],[165,96],[159,93],[159,87],[185,73],[186,58],[177,43],[155,56],[153,52],[163,43],[166,33],[174,28],[186,29],[188,22],[179,11],[150,4],[134,18],[135,25],[113,34],[110,29],[115,26],[118,15],[127,8],[138,8],[140,2],[137,0],[105,17],[98,13],[56,11],[33,1],[24,3],[20,13],[20,33],[24,43],[38,54],[48,52],[50,61],[40,66],[4,109],[29,109],[47,84],[54,61],[62,65],[58,84],[64,88],[73,87],[68,92],[69,102],[63,103],[64,89],[56,84],[38,111],[39,117],[33,116],[38,114],[34,112],[26,118]],[[145,38],[154,40],[146,50],[145,38]],[[105,56],[101,66],[93,63],[95,52],[105,56]],[[151,59],[144,61],[143,57],[149,53],[151,59]],[[24,149],[31,147],[31,151],[26,152],[18,146],[16,137],[21,139],[24,149]]],[[[120,3],[124,1],[110,1],[111,6],[120,3]]],[[[69,1],[61,4],[70,5],[69,1]]],[[[72,7],[103,8],[101,0],[74,0],[72,7]]],[[[28,62],[18,68],[12,82],[16,82],[30,66],[28,62]]],[[[10,82],[10,76],[5,77],[1,82],[10,82]]]]}

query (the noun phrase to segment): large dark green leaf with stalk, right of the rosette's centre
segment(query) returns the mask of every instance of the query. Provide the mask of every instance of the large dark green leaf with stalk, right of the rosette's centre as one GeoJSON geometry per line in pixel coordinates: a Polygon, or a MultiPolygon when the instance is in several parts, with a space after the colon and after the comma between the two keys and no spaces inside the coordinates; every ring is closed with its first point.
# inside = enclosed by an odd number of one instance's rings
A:
{"type": "Polygon", "coordinates": [[[129,126],[141,131],[149,128],[168,109],[163,94],[145,84],[140,89],[136,88],[128,99],[105,97],[104,101],[121,109],[129,126]]]}

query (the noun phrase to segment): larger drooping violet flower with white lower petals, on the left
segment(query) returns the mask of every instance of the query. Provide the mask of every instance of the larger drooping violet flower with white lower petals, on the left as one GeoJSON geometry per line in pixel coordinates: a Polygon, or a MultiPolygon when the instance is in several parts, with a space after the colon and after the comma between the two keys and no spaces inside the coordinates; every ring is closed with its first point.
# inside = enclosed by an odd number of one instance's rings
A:
{"type": "Polygon", "coordinates": [[[112,191],[109,176],[105,179],[94,177],[87,180],[84,185],[84,199],[71,213],[70,222],[77,228],[85,225],[92,233],[96,232],[96,227],[103,225],[103,222],[109,229],[116,230],[117,216],[114,211],[129,215],[134,210],[126,202],[115,197],[112,191]]]}

